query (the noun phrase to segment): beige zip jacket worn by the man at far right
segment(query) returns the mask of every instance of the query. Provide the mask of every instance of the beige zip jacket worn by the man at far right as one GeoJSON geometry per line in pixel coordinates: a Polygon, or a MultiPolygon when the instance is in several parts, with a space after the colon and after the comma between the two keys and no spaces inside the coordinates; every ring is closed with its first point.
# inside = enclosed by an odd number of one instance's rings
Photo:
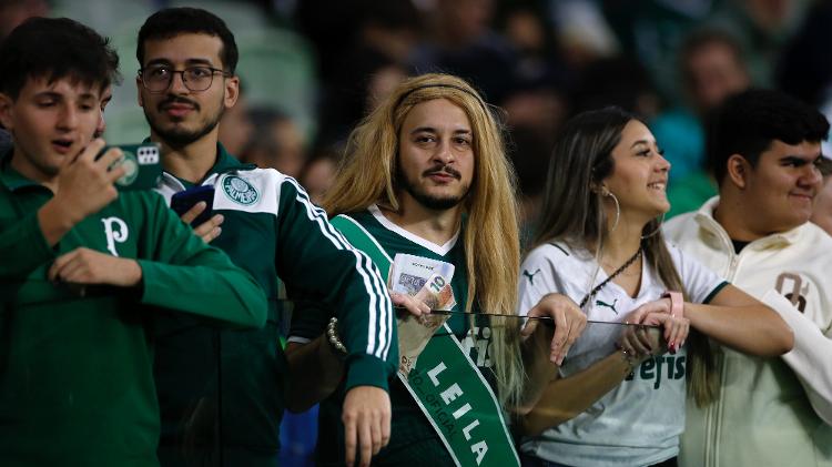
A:
{"type": "Polygon", "coordinates": [[[794,348],[760,358],[718,347],[719,400],[688,402],[680,465],[832,466],[832,237],[806,223],[735,254],[718,203],[669,221],[670,243],[777,309],[794,348]]]}

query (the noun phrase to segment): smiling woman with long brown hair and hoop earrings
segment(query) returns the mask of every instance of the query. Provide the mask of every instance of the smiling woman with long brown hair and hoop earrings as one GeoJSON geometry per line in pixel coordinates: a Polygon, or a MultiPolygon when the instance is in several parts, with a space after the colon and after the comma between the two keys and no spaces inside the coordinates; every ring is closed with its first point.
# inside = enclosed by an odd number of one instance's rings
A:
{"type": "Polygon", "coordinates": [[[519,419],[524,465],[674,466],[687,387],[713,398],[708,338],[755,355],[791,348],[777,313],[666,243],[669,170],[648,128],[617,108],[577,115],[556,143],[520,312],[560,293],[590,321],[663,332],[585,333],[570,356],[596,358],[567,359],[519,419]]]}

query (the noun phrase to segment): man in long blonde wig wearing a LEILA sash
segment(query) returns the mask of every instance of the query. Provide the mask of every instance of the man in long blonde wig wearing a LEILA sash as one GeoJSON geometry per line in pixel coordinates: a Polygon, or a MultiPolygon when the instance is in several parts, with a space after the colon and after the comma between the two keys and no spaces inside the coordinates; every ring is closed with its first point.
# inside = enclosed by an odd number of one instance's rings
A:
{"type": "MultiPolygon", "coordinates": [[[[555,318],[556,333],[536,332],[532,319],[522,336],[534,338],[521,346],[520,319],[489,316],[516,314],[520,257],[516,186],[497,120],[464,80],[425,74],[399,84],[354,130],[345,158],[322,204],[349,242],[382,271],[399,253],[454,266],[456,313],[433,337],[428,332],[409,376],[400,369],[392,383],[390,441],[373,465],[518,465],[503,406],[522,413],[534,405],[554,375],[549,358],[560,364],[586,317],[568,298],[547,295],[529,315],[555,318]],[[428,364],[429,355],[438,359],[428,364]]],[[[348,440],[337,433],[343,393],[329,394],[341,377],[329,333],[322,336],[331,313],[301,307],[287,347],[291,407],[328,396],[317,455],[335,465],[348,440]],[[311,365],[322,369],[304,370],[311,365]]],[[[419,339],[403,329],[399,344],[419,339]]],[[[405,346],[399,351],[407,367],[405,346]]]]}

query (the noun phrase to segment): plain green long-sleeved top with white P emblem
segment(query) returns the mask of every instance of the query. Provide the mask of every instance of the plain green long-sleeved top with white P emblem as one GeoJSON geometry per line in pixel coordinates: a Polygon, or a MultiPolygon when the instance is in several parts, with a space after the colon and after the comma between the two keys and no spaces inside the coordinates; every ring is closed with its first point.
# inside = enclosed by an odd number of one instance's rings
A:
{"type": "Polygon", "coordinates": [[[0,464],[155,466],[159,408],[148,332],[162,312],[262,326],[251,275],[194,236],[155,193],[125,192],[50,247],[37,211],[52,197],[0,162],[0,464]],[[48,281],[78,247],[138,260],[142,285],[48,281]]]}

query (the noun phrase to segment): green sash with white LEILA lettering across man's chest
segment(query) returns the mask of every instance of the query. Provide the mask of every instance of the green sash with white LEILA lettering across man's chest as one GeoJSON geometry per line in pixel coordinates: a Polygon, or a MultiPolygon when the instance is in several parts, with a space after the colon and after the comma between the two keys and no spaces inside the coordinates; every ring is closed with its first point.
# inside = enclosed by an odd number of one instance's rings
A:
{"type": "MultiPolygon", "coordinates": [[[[393,260],[373,235],[345,215],[332,224],[373,260],[386,282],[393,260]]],[[[497,397],[447,324],[430,338],[409,375],[398,377],[456,465],[520,465],[497,397]]]]}

